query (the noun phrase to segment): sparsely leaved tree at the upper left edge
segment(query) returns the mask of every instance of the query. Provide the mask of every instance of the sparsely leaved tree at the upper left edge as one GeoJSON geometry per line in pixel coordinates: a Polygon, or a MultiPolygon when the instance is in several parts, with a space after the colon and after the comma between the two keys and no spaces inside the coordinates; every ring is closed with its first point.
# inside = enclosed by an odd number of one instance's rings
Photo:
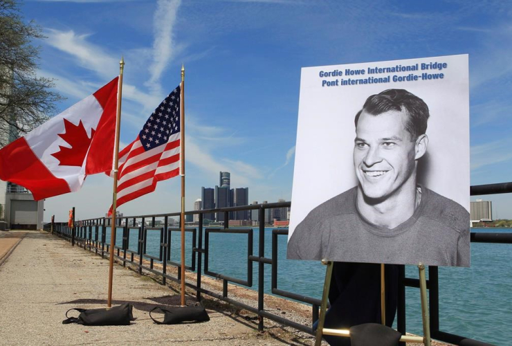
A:
{"type": "Polygon", "coordinates": [[[42,30],[26,23],[16,0],[0,0],[0,147],[24,136],[57,111],[62,96],[39,77],[42,30]]]}

